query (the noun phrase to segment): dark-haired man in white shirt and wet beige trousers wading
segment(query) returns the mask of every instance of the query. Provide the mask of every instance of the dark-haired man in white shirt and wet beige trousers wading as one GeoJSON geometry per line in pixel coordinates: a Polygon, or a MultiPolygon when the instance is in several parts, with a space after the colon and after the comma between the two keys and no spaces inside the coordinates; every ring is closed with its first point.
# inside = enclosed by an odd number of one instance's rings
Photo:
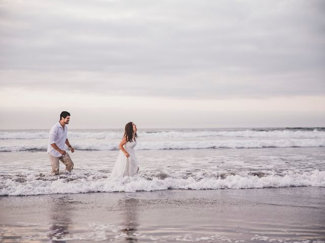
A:
{"type": "Polygon", "coordinates": [[[66,166],[67,171],[71,172],[73,169],[71,157],[69,153],[64,150],[64,144],[67,144],[72,153],[75,151],[67,138],[68,127],[66,125],[69,124],[69,121],[70,113],[68,111],[62,111],[59,122],[55,124],[50,131],[47,152],[49,153],[52,164],[52,174],[54,175],[59,173],[59,160],[66,166]]]}

